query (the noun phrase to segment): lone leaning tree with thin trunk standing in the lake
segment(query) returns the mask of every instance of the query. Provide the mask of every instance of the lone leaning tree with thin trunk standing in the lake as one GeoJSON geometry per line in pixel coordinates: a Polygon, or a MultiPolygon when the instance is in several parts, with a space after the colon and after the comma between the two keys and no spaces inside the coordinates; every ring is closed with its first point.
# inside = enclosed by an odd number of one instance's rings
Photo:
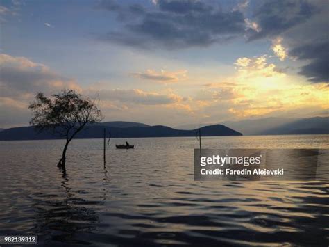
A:
{"type": "Polygon", "coordinates": [[[80,132],[85,125],[101,121],[101,111],[96,104],[74,90],[63,90],[62,92],[44,96],[37,93],[35,101],[28,106],[33,111],[30,124],[40,130],[47,130],[54,136],[66,138],[62,158],[58,167],[65,169],[66,151],[74,136],[80,132]]]}

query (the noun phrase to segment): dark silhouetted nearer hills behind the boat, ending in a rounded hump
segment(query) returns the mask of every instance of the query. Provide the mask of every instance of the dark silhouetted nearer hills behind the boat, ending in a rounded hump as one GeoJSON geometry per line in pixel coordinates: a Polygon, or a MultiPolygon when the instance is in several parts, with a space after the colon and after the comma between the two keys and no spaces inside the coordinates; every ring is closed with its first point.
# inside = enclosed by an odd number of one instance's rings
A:
{"type": "MultiPolygon", "coordinates": [[[[196,129],[182,130],[173,129],[167,126],[146,126],[146,127],[107,127],[111,132],[112,138],[139,138],[139,137],[176,137],[176,136],[196,136],[196,129]]],[[[92,125],[83,129],[76,135],[76,138],[103,138],[103,125],[92,125]]],[[[241,133],[236,132],[223,125],[211,125],[201,128],[202,136],[242,136],[241,133]]],[[[38,133],[34,127],[16,127],[5,129],[0,132],[1,141],[9,140],[42,140],[42,139],[56,139],[58,137],[52,136],[47,132],[38,133]]]]}

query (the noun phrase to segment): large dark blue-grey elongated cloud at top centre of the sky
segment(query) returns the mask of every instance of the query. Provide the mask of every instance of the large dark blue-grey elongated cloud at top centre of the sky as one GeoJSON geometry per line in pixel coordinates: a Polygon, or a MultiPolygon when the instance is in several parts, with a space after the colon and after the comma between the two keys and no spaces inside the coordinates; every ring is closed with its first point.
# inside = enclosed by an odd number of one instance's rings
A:
{"type": "Polygon", "coordinates": [[[202,47],[243,35],[245,28],[244,15],[239,11],[223,12],[217,6],[192,0],[161,0],[149,8],[102,1],[99,8],[117,13],[124,27],[102,39],[136,47],[202,47]]]}

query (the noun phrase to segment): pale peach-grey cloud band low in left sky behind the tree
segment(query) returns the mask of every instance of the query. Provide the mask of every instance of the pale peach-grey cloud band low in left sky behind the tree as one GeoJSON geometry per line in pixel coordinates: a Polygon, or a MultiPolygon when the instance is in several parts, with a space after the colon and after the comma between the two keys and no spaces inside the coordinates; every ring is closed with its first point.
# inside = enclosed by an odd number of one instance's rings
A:
{"type": "MultiPolygon", "coordinates": [[[[64,88],[78,90],[90,97],[99,95],[101,109],[111,119],[157,122],[159,115],[165,115],[169,123],[171,120],[179,122],[182,116],[189,118],[193,114],[190,99],[173,90],[160,93],[142,89],[99,90],[99,87],[81,88],[73,79],[53,72],[46,65],[25,57],[0,54],[0,125],[27,125],[31,118],[27,106],[35,93],[42,91],[50,95],[64,88]]],[[[158,123],[166,124],[160,120],[158,123]]]]}

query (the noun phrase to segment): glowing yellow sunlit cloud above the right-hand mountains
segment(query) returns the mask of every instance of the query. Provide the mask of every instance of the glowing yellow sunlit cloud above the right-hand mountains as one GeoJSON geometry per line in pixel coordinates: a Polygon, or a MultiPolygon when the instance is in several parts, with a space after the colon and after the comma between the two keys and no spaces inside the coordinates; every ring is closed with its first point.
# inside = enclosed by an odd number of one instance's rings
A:
{"type": "Polygon", "coordinates": [[[190,105],[209,120],[267,117],[289,111],[328,108],[328,90],[322,84],[301,84],[268,61],[269,56],[242,57],[236,73],[225,81],[205,83],[190,105]]]}

